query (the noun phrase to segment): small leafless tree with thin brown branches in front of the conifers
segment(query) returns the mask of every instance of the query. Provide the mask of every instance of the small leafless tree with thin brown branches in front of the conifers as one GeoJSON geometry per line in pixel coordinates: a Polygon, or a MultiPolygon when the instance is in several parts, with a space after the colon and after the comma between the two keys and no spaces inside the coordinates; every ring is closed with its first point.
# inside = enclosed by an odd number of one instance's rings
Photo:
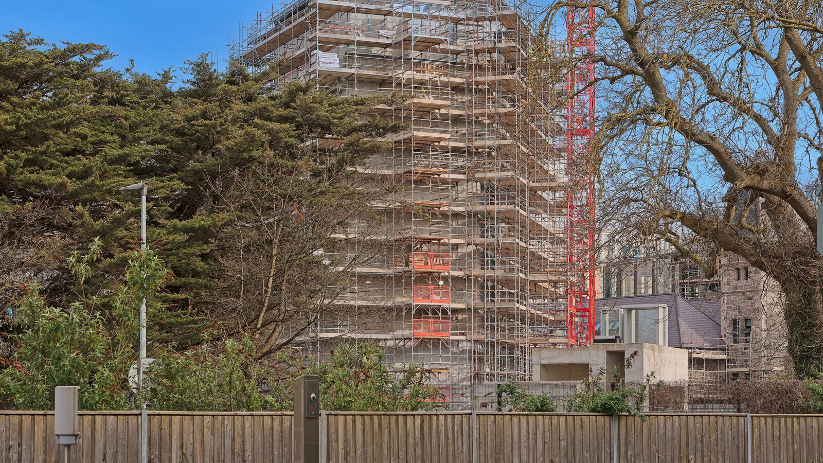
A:
{"type": "Polygon", "coordinates": [[[371,204],[385,190],[357,188],[351,170],[319,157],[307,150],[210,185],[216,210],[228,217],[216,236],[221,273],[207,295],[212,316],[230,333],[255,333],[261,356],[304,335],[321,312],[339,318],[340,307],[329,302],[346,292],[351,269],[375,254],[365,234],[349,238],[342,231],[351,222],[376,224],[371,204]],[[351,246],[354,239],[358,246],[351,246]]]}

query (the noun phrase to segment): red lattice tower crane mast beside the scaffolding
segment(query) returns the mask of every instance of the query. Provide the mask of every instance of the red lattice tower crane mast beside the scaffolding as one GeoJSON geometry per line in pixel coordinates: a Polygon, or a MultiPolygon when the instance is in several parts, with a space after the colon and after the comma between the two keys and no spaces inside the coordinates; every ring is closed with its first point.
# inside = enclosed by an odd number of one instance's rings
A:
{"type": "Polygon", "coordinates": [[[566,105],[566,170],[570,191],[566,195],[566,340],[569,346],[586,346],[594,340],[594,182],[596,159],[592,142],[595,124],[594,62],[596,21],[594,7],[567,7],[566,47],[571,66],[566,105]]]}

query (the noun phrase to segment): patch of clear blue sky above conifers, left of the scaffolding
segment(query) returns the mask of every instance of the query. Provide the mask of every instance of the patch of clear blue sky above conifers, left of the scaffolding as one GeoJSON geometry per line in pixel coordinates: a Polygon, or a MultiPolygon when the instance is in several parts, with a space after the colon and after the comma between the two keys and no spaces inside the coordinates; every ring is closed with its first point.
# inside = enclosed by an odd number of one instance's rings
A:
{"type": "Polygon", "coordinates": [[[119,54],[114,68],[133,58],[138,71],[153,73],[206,51],[224,61],[240,24],[271,6],[272,0],[0,0],[0,31],[105,44],[119,54]]]}

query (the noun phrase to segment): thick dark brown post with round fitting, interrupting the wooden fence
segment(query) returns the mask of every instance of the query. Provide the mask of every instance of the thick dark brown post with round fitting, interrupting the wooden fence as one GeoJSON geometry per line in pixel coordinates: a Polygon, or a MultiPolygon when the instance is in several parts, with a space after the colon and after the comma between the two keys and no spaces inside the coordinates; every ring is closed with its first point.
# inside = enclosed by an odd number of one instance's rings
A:
{"type": "Polygon", "coordinates": [[[293,463],[320,462],[320,377],[295,379],[294,431],[291,433],[293,463]]]}

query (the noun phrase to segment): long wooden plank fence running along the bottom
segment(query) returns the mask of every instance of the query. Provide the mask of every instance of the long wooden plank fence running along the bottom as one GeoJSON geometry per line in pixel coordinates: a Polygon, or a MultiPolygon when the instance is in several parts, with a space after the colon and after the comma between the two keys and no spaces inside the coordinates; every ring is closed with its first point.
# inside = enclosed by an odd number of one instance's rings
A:
{"type": "MultiPolygon", "coordinates": [[[[289,413],[149,412],[154,463],[291,463],[289,413]]],[[[326,463],[809,463],[823,415],[494,412],[321,417],[326,463]]],[[[81,412],[69,461],[137,463],[138,412],[81,412]]],[[[50,412],[0,411],[0,463],[58,463],[50,412]]]]}

